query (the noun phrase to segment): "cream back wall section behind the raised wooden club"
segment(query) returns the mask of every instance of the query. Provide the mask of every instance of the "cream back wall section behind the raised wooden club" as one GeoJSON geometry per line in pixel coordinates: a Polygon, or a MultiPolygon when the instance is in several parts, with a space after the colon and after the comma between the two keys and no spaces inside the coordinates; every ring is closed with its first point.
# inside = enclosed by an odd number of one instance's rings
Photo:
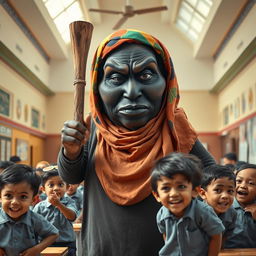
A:
{"type": "MultiPolygon", "coordinates": [[[[58,134],[66,120],[72,120],[74,113],[74,93],[59,92],[47,101],[47,132],[58,134]]],[[[89,95],[85,92],[85,110],[89,113],[89,95]]]]}

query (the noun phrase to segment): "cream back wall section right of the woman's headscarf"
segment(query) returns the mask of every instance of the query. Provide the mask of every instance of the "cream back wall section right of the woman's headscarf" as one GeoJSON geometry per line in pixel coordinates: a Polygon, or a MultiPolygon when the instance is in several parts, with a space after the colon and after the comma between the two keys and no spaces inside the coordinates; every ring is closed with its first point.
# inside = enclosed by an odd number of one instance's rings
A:
{"type": "Polygon", "coordinates": [[[218,129],[218,99],[206,91],[181,91],[180,107],[197,132],[216,132],[218,129]]]}

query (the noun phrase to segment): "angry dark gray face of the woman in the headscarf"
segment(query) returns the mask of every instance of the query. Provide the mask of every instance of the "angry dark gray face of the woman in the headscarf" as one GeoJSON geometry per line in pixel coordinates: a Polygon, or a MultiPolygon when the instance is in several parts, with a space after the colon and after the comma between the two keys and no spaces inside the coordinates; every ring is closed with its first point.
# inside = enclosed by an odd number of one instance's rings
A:
{"type": "Polygon", "coordinates": [[[106,59],[99,94],[113,124],[136,130],[158,114],[165,84],[150,49],[125,45],[106,59]]]}

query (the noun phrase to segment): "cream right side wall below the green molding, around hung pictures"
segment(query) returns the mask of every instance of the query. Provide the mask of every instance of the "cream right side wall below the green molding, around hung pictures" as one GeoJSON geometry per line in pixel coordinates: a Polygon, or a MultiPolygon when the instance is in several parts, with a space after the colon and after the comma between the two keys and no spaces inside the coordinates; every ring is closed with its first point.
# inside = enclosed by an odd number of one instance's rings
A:
{"type": "Polygon", "coordinates": [[[256,112],[256,58],[252,60],[247,67],[240,72],[237,77],[231,81],[231,83],[218,95],[218,116],[220,123],[218,130],[225,129],[230,124],[233,124],[246,116],[256,112]],[[253,92],[252,105],[249,106],[249,90],[253,92]],[[246,109],[242,111],[242,94],[246,99],[246,109]],[[235,118],[235,106],[237,101],[239,104],[239,117],[235,118]],[[229,108],[229,123],[224,125],[223,123],[223,110],[229,108]],[[233,111],[230,112],[231,108],[233,111]]]}

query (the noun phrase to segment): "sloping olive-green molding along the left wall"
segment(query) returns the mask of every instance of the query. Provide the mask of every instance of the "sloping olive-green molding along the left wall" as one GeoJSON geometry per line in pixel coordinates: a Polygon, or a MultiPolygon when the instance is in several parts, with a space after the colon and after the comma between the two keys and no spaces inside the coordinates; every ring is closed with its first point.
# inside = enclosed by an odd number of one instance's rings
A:
{"type": "Polygon", "coordinates": [[[10,66],[21,77],[28,81],[35,89],[45,96],[52,96],[55,93],[50,90],[27,66],[19,60],[4,44],[0,41],[0,59],[10,66]]]}

